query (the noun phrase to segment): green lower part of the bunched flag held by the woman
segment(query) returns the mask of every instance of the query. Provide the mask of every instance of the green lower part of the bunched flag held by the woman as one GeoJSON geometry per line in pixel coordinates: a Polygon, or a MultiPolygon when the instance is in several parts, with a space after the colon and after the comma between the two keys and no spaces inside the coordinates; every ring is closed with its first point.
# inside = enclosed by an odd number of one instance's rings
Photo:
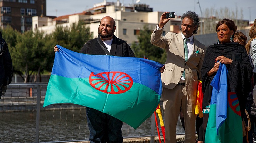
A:
{"type": "Polygon", "coordinates": [[[241,116],[234,113],[230,107],[227,108],[227,119],[219,128],[218,135],[216,128],[216,104],[213,104],[210,108],[205,143],[241,143],[243,141],[242,120],[241,116]]]}

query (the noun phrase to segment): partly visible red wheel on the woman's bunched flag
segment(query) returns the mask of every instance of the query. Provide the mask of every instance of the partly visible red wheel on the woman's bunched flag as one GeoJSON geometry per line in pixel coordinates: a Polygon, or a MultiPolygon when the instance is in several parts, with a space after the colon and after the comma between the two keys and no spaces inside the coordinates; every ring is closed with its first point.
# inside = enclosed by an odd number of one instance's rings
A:
{"type": "Polygon", "coordinates": [[[234,111],[234,113],[241,116],[238,98],[235,92],[228,92],[228,102],[230,108],[234,111]]]}

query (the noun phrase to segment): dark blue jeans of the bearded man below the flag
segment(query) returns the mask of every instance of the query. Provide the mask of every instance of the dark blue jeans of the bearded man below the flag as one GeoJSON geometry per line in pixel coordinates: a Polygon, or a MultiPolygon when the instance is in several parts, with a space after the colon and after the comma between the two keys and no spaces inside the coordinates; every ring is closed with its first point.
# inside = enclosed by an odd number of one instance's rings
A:
{"type": "Polygon", "coordinates": [[[122,143],[123,122],[106,113],[86,107],[90,143],[122,143]]]}

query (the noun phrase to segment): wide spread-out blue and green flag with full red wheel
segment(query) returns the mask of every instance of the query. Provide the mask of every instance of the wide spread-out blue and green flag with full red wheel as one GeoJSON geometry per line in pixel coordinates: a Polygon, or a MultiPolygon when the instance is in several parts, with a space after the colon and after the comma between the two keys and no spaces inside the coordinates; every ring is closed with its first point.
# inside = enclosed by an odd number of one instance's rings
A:
{"type": "Polygon", "coordinates": [[[143,59],[87,55],[57,45],[44,107],[73,103],[107,113],[136,129],[160,102],[163,65],[143,59]]]}

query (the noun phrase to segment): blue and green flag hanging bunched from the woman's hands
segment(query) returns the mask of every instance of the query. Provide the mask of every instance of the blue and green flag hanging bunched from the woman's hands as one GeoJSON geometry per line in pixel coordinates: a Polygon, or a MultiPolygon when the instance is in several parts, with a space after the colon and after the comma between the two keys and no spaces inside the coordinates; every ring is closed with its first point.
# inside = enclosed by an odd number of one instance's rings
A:
{"type": "Polygon", "coordinates": [[[241,143],[242,119],[237,95],[228,92],[228,71],[220,63],[219,70],[211,82],[213,86],[205,143],[241,143]]]}

